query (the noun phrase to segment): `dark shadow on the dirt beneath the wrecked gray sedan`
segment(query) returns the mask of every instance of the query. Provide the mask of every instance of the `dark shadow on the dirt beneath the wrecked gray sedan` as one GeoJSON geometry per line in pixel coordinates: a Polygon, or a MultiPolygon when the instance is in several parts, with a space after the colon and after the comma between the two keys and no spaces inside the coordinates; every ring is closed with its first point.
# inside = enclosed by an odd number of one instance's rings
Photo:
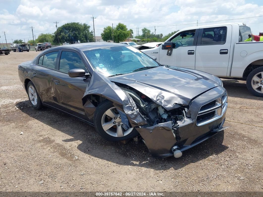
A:
{"type": "Polygon", "coordinates": [[[70,138],[63,139],[63,142],[79,140],[81,142],[77,146],[79,151],[119,165],[140,166],[155,170],[180,169],[211,155],[218,155],[228,148],[222,144],[224,131],[221,131],[205,142],[184,151],[183,156],[180,158],[156,159],[150,155],[142,141],[138,144],[133,140],[130,140],[127,144],[109,142],[100,137],[94,127],[65,113],[49,108],[34,110],[29,101],[19,102],[16,106],[30,117],[69,135],[70,138]]]}

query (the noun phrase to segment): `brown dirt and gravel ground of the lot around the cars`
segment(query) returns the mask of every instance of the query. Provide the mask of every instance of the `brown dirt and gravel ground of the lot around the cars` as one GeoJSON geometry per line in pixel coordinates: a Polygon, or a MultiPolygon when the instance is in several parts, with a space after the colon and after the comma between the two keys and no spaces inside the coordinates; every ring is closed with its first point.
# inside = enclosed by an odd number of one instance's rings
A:
{"type": "MultiPolygon", "coordinates": [[[[154,159],[142,142],[107,142],[77,119],[34,110],[17,65],[37,54],[0,55],[0,191],[263,191],[262,127],[226,121],[181,158],[154,159]]],[[[263,99],[244,81],[224,87],[226,119],[263,126],[263,99]]]]}

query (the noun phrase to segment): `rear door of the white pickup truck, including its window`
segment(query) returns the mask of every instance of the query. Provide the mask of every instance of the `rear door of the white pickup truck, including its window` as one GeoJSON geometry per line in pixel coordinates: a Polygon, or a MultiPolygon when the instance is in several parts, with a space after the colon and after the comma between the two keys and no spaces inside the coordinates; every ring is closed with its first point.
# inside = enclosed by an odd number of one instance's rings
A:
{"type": "Polygon", "coordinates": [[[200,28],[195,52],[195,69],[225,77],[229,64],[231,37],[231,25],[200,28]]]}

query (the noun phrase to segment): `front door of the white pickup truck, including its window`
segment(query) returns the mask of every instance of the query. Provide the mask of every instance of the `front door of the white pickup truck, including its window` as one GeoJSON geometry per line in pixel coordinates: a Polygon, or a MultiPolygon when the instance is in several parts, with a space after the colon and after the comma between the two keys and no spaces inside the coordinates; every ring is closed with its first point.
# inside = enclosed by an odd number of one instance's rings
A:
{"type": "Polygon", "coordinates": [[[187,30],[171,37],[173,52],[167,55],[168,49],[159,50],[159,63],[177,67],[195,69],[195,48],[199,29],[187,30]]]}

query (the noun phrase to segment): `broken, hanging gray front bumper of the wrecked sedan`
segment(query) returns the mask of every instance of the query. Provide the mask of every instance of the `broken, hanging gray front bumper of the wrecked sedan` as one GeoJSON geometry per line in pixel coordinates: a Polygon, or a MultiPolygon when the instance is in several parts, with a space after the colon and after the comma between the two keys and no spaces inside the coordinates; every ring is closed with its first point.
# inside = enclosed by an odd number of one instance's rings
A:
{"type": "MultiPolygon", "coordinates": [[[[195,118],[200,106],[223,96],[225,93],[224,88],[216,87],[194,99],[189,107],[188,117],[177,121],[178,125],[174,128],[171,121],[152,127],[136,128],[151,155],[156,158],[173,156],[173,147],[177,146],[178,150],[185,151],[224,130],[226,109],[219,117],[203,125],[198,126],[195,118]]],[[[227,107],[227,103],[225,107],[227,107]]]]}

